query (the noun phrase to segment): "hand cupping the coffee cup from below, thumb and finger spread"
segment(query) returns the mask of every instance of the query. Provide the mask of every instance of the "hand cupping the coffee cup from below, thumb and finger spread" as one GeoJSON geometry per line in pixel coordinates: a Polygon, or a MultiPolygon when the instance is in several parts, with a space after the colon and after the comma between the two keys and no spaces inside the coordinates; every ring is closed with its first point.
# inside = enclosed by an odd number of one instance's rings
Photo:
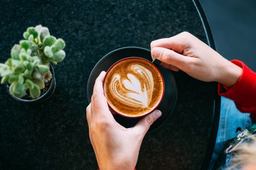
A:
{"type": "Polygon", "coordinates": [[[98,166],[103,169],[134,169],[143,137],[150,125],[161,116],[156,110],[142,118],[136,126],[126,129],[118,124],[104,97],[102,71],[94,84],[91,103],[86,109],[89,137],[94,148],[98,166]]]}

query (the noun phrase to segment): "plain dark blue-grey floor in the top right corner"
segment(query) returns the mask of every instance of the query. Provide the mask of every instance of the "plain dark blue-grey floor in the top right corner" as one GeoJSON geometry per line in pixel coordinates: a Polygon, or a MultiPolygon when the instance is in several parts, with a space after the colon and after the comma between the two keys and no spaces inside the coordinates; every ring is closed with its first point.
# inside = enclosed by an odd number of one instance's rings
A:
{"type": "Polygon", "coordinates": [[[216,50],[256,71],[256,1],[201,0],[216,50]]]}

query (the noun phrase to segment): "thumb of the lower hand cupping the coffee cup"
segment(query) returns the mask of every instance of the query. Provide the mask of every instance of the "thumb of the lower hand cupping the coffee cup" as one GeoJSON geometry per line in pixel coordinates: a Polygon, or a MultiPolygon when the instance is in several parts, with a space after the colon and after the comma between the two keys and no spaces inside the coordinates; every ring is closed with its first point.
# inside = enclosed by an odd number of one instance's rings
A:
{"type": "Polygon", "coordinates": [[[151,114],[148,114],[133,127],[134,131],[139,133],[140,135],[145,136],[148,129],[150,129],[150,126],[162,115],[162,112],[160,110],[156,109],[151,114]]]}

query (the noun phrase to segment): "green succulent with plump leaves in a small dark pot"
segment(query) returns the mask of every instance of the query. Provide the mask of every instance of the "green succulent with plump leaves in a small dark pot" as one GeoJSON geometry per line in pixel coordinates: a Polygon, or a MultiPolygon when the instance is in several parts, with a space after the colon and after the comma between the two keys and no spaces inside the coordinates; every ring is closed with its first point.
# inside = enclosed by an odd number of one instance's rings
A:
{"type": "Polygon", "coordinates": [[[29,95],[40,97],[40,89],[51,81],[50,63],[57,65],[66,56],[63,39],[50,35],[46,27],[29,27],[23,33],[25,39],[13,46],[11,58],[0,63],[1,84],[10,84],[10,94],[16,98],[29,95]]]}

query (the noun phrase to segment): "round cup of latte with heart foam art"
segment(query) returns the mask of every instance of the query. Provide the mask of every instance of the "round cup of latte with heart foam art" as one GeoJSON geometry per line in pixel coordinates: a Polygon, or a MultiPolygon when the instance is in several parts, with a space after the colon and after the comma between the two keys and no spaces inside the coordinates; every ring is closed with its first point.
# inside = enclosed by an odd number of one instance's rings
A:
{"type": "Polygon", "coordinates": [[[117,61],[106,73],[104,93],[113,111],[128,117],[152,112],[162,100],[165,85],[158,68],[143,58],[117,61]]]}

